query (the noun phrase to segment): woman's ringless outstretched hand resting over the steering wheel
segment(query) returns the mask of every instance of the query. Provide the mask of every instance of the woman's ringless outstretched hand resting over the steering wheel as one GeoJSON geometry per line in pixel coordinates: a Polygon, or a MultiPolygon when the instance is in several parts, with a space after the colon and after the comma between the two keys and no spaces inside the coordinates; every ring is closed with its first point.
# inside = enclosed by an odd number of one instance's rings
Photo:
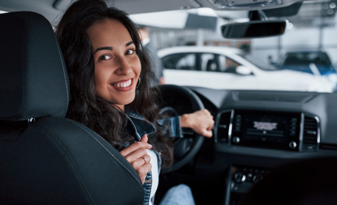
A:
{"type": "Polygon", "coordinates": [[[207,109],[195,111],[190,114],[183,114],[180,117],[181,127],[192,128],[196,133],[205,137],[212,137],[214,125],[213,116],[207,109]]]}

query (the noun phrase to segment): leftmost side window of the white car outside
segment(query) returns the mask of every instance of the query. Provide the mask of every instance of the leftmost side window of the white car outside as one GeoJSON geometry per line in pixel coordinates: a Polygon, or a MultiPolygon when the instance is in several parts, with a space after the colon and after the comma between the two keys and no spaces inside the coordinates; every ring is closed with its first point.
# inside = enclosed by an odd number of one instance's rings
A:
{"type": "Polygon", "coordinates": [[[196,67],[196,55],[193,53],[179,53],[162,58],[166,69],[198,70],[196,67]]]}

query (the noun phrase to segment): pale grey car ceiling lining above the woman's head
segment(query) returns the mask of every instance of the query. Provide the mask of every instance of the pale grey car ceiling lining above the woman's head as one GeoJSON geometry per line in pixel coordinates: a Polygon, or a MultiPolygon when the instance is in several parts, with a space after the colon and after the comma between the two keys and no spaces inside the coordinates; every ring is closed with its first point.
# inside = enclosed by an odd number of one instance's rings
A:
{"type": "MultiPolygon", "coordinates": [[[[56,22],[59,18],[59,14],[69,3],[75,0],[0,0],[0,10],[3,11],[34,11],[42,14],[50,22],[56,22]]],[[[217,10],[237,10],[238,8],[216,8],[211,2],[223,1],[230,2],[230,0],[106,0],[110,2],[111,5],[125,10],[130,14],[135,13],[147,13],[156,11],[168,11],[168,10],[179,10],[179,9],[189,9],[189,8],[200,8],[200,7],[210,7],[217,10]]],[[[234,2],[234,0],[231,0],[234,2]]],[[[239,3],[248,3],[251,0],[235,0],[239,3]]],[[[253,0],[254,2],[263,2],[266,0],[253,0]]],[[[278,0],[281,1],[282,6],[287,6],[298,2],[300,0],[278,0]]],[[[271,6],[268,8],[274,8],[271,6]]],[[[245,10],[256,10],[262,7],[250,7],[241,8],[245,10]]]]}

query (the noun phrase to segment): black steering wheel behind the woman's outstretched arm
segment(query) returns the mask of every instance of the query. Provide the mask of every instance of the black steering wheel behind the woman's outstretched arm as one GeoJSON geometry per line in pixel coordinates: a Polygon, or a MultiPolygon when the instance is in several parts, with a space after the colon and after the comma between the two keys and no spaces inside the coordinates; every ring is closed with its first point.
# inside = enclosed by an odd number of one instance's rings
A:
{"type": "MultiPolygon", "coordinates": [[[[204,104],[200,98],[189,88],[176,85],[161,85],[161,99],[158,103],[159,113],[168,116],[177,116],[185,113],[204,109],[204,104]]],[[[163,172],[175,171],[188,163],[199,151],[204,136],[195,133],[192,129],[183,128],[183,138],[176,138],[173,141],[174,163],[168,170],[163,172]]]]}

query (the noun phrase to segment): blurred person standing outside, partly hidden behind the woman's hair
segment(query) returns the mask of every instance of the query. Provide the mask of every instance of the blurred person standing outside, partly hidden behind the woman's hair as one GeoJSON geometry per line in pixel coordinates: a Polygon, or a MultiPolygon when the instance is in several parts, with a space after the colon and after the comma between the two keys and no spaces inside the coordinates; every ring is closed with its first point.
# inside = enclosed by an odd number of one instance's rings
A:
{"type": "MultiPolygon", "coordinates": [[[[155,74],[155,81],[159,85],[165,84],[163,67],[161,65],[161,61],[157,56],[157,50],[152,46],[151,40],[149,37],[149,28],[146,26],[138,26],[138,33],[144,48],[150,58],[151,61],[151,71],[155,74]]],[[[152,85],[151,85],[152,86],[152,85]]]]}

